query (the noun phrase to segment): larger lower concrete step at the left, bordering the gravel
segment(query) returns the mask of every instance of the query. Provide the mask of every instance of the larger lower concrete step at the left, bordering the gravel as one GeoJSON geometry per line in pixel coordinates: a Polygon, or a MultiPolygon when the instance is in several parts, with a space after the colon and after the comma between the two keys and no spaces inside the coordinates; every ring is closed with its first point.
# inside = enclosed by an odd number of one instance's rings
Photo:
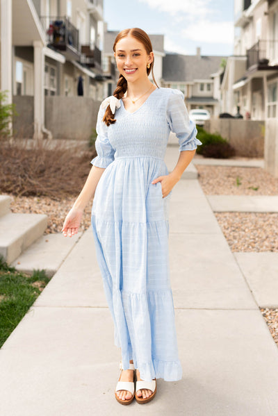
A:
{"type": "Polygon", "coordinates": [[[47,215],[12,214],[0,217],[0,254],[12,263],[47,228],[47,215]]]}

